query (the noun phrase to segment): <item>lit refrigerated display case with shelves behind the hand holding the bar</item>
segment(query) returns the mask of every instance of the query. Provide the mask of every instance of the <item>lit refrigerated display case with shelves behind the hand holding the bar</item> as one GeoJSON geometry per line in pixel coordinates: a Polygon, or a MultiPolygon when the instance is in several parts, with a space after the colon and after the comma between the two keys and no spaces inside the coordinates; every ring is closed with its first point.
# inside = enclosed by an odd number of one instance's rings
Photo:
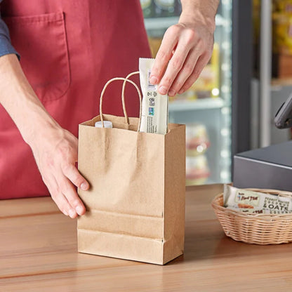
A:
{"type": "MultiPolygon", "coordinates": [[[[220,2],[210,62],[189,91],[169,101],[169,122],[187,127],[188,185],[231,181],[232,0],[220,2]]],[[[178,23],[180,1],[141,0],[141,6],[155,57],[166,29],[178,23]]]]}

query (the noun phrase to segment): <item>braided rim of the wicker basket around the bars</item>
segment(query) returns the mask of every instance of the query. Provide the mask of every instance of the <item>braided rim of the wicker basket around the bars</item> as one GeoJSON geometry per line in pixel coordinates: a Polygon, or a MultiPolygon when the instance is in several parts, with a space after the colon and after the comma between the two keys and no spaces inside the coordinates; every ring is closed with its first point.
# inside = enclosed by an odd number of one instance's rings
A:
{"type": "MultiPolygon", "coordinates": [[[[292,197],[292,192],[286,192],[286,191],[281,191],[281,190],[266,190],[266,189],[255,189],[255,188],[248,188],[248,189],[244,189],[244,190],[251,190],[251,191],[255,191],[255,192],[263,192],[266,194],[275,194],[277,193],[280,196],[283,197],[292,197]]],[[[263,219],[271,219],[271,218],[291,218],[292,219],[292,213],[288,213],[288,214],[256,214],[256,213],[243,213],[241,211],[236,211],[236,210],[232,210],[229,208],[226,208],[224,206],[221,206],[218,204],[218,199],[220,197],[223,197],[223,192],[221,192],[220,194],[217,194],[213,200],[211,201],[211,206],[213,207],[213,209],[219,209],[220,211],[223,211],[224,213],[230,213],[239,217],[244,217],[244,218],[253,218],[253,217],[260,217],[263,219]]]]}

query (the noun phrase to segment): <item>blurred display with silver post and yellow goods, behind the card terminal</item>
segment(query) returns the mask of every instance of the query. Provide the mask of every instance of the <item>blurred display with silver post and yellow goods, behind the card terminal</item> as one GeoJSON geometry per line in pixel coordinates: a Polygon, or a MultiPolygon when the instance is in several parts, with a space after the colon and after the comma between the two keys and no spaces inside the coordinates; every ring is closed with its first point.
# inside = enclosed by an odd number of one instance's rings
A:
{"type": "Polygon", "coordinates": [[[255,72],[252,79],[252,148],[291,140],[274,117],[292,93],[291,1],[253,0],[255,72]]]}

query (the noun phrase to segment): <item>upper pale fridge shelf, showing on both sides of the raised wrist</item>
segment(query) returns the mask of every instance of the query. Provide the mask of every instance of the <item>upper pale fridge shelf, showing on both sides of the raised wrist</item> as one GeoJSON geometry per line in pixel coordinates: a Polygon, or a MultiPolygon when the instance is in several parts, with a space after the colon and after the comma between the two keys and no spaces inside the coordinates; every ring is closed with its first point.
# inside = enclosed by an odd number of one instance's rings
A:
{"type": "MultiPolygon", "coordinates": [[[[178,20],[178,16],[169,16],[166,18],[145,18],[144,23],[146,30],[167,29],[171,25],[178,23],[178,20]]],[[[216,15],[215,22],[216,26],[225,25],[225,23],[227,23],[227,21],[219,14],[216,15]]]]}

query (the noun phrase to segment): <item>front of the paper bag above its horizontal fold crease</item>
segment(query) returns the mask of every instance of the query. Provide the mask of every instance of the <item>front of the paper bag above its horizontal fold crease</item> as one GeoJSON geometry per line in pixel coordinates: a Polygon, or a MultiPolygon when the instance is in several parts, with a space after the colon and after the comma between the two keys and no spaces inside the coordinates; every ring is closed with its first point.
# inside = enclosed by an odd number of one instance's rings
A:
{"type": "Polygon", "coordinates": [[[163,216],[164,135],[80,126],[79,171],[88,210],[163,216]]]}

